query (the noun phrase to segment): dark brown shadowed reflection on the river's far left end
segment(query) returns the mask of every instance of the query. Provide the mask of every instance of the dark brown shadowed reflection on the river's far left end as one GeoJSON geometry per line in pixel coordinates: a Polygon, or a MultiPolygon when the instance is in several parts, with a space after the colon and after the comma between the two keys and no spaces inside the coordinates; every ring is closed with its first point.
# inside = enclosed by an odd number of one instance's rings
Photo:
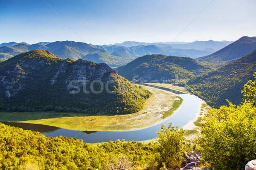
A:
{"type": "Polygon", "coordinates": [[[20,127],[20,128],[23,128],[24,130],[33,130],[41,133],[54,132],[55,130],[59,129],[58,127],[38,125],[38,124],[32,124],[32,123],[19,123],[19,122],[1,122],[1,123],[9,126],[20,127]]]}

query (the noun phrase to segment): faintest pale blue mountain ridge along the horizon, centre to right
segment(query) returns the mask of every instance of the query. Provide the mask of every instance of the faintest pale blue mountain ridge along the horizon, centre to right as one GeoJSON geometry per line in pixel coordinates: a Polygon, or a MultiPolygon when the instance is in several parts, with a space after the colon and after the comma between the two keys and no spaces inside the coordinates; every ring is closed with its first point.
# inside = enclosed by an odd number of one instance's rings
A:
{"type": "Polygon", "coordinates": [[[212,50],[218,51],[221,48],[229,45],[233,41],[195,41],[195,42],[136,42],[136,41],[125,41],[122,43],[115,43],[114,45],[134,47],[139,45],[157,45],[162,48],[181,48],[181,49],[195,49],[195,50],[205,50],[211,48],[212,50]]]}

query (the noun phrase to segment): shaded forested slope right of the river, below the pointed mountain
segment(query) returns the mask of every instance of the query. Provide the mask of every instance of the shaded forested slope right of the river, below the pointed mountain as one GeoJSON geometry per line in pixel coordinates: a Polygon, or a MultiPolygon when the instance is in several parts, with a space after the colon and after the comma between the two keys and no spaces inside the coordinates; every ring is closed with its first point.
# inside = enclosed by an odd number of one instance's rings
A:
{"type": "Polygon", "coordinates": [[[221,68],[189,80],[189,91],[215,108],[228,105],[226,99],[239,105],[243,98],[241,90],[248,80],[253,79],[254,72],[256,50],[221,68]]]}

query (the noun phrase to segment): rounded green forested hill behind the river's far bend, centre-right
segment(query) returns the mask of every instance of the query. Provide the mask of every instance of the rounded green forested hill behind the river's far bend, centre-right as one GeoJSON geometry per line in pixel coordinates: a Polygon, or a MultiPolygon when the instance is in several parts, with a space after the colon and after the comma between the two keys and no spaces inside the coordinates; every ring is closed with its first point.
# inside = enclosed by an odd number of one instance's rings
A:
{"type": "Polygon", "coordinates": [[[189,57],[160,54],[145,55],[117,68],[119,75],[128,80],[190,79],[212,69],[189,57]]]}

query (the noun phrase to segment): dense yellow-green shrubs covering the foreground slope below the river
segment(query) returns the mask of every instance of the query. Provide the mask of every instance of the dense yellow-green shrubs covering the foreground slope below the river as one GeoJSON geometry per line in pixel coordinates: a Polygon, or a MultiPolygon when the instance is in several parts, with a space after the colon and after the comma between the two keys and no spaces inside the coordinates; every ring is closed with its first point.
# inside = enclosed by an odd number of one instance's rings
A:
{"type": "MultiPolygon", "coordinates": [[[[163,127],[163,134],[159,136],[162,144],[117,140],[98,144],[95,147],[79,139],[62,136],[49,138],[39,132],[0,123],[0,168],[15,167],[17,170],[29,168],[34,170],[155,169],[161,167],[162,162],[170,158],[182,157],[184,132],[177,130],[177,127],[172,127],[170,134],[177,133],[180,137],[166,140],[165,136],[169,130],[170,127],[163,127]],[[175,145],[164,148],[166,142],[175,142],[175,145]],[[172,149],[172,153],[167,153],[166,149],[172,149]],[[118,162],[123,165],[118,167],[118,162]]],[[[176,164],[180,166],[182,161],[178,159],[176,164]]],[[[168,162],[166,164],[169,166],[168,162]]]]}

